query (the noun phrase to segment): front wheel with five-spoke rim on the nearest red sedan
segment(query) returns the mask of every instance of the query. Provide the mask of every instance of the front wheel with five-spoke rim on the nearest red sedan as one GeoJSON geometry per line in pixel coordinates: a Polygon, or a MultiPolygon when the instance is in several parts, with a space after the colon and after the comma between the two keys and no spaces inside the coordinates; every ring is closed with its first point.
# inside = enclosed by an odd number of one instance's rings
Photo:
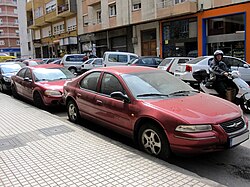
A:
{"type": "Polygon", "coordinates": [[[164,160],[167,160],[171,155],[165,133],[153,123],[141,126],[138,134],[138,145],[140,150],[164,160]]]}

